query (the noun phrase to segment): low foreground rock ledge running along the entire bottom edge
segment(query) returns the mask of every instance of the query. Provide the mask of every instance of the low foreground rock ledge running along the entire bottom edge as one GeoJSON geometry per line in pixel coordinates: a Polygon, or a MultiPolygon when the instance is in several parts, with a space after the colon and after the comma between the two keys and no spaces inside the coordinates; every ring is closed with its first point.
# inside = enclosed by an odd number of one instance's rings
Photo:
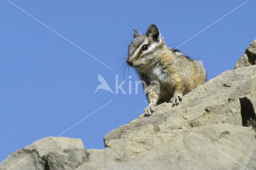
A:
{"type": "MultiPolygon", "coordinates": [[[[6,170],[44,146],[37,140],[6,158],[6,170]],[[39,147],[39,148],[38,148],[39,147]],[[26,150],[26,153],[24,152],[26,150]]],[[[56,138],[12,169],[248,169],[256,168],[256,132],[250,127],[219,124],[191,128],[125,161],[114,149],[85,150],[79,139],[56,138]],[[41,151],[40,151],[41,150],[41,151]]]]}

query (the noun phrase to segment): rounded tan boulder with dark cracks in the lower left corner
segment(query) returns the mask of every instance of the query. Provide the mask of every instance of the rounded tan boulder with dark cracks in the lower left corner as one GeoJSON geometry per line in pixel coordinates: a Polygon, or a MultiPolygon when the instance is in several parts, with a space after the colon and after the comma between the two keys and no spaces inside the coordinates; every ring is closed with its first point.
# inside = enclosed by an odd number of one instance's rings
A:
{"type": "Polygon", "coordinates": [[[7,170],[15,164],[12,170],[75,169],[86,161],[88,153],[82,140],[51,136],[16,150],[0,164],[0,169],[7,170]]]}

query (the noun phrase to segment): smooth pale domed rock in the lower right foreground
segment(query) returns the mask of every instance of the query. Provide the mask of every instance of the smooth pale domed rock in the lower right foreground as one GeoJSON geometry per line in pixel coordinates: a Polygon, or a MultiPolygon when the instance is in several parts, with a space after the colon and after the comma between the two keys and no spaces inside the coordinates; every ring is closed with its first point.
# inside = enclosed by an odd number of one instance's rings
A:
{"type": "Polygon", "coordinates": [[[138,154],[119,168],[255,169],[255,135],[252,128],[230,124],[196,127],[138,154]]]}

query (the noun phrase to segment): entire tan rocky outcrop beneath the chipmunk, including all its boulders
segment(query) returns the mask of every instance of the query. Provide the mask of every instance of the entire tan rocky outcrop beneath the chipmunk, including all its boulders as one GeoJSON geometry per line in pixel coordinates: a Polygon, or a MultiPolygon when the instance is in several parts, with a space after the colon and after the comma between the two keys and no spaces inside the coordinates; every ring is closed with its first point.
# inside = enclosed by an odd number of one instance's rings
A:
{"type": "MultiPolygon", "coordinates": [[[[246,56],[255,55],[253,44],[246,56]]],[[[12,169],[256,169],[256,65],[240,61],[180,105],[162,103],[150,117],[108,132],[106,149],[47,137],[10,154],[0,169],[24,158],[12,169]]]]}

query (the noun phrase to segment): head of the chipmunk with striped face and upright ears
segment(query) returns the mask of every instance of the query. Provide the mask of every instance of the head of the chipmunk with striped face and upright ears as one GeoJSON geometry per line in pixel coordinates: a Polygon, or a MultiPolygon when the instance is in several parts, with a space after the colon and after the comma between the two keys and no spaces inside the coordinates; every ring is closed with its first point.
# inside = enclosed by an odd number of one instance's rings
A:
{"type": "Polygon", "coordinates": [[[159,59],[159,51],[165,45],[156,25],[151,24],[146,34],[138,34],[133,28],[134,39],[128,47],[126,62],[138,71],[142,71],[159,59]]]}

